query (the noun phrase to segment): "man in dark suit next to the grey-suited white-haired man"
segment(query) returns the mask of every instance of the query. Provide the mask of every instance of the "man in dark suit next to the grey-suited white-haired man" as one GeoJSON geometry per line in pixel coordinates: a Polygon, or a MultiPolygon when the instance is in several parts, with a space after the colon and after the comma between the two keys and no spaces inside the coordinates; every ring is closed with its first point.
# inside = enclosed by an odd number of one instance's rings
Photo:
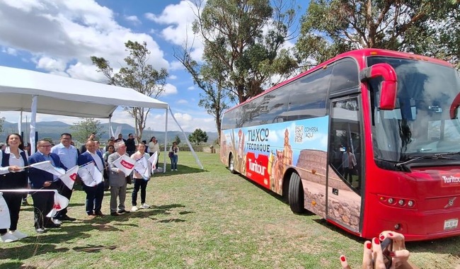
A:
{"type": "MultiPolygon", "coordinates": [[[[88,140],[85,146],[86,151],[79,156],[77,164],[82,166],[93,161],[100,173],[103,173],[104,159],[100,151],[96,151],[96,143],[93,140],[88,140]]],[[[104,181],[93,187],[83,183],[83,190],[86,193],[86,214],[88,214],[89,217],[103,217],[104,214],[100,211],[100,208],[102,207],[102,200],[104,198],[104,181]]]]}

